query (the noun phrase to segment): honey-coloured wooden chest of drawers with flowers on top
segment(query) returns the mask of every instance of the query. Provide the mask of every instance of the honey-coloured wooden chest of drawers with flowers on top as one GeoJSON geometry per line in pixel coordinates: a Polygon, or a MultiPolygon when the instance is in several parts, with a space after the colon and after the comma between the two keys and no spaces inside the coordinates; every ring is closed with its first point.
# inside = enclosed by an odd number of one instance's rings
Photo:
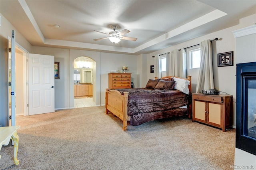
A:
{"type": "Polygon", "coordinates": [[[132,73],[108,73],[108,88],[131,88],[131,74],[132,73]]]}

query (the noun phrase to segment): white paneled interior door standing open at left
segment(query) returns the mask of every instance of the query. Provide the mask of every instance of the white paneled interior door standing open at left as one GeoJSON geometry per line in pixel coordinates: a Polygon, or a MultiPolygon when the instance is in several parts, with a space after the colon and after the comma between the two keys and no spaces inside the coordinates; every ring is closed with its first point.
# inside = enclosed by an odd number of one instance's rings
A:
{"type": "Polygon", "coordinates": [[[54,56],[28,54],[28,115],[54,108],[54,56]]]}

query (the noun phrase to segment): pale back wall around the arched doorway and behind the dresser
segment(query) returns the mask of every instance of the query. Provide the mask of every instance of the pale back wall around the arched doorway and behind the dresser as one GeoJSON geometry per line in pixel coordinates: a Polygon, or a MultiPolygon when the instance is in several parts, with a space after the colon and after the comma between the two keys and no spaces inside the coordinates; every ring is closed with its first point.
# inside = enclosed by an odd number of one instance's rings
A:
{"type": "Polygon", "coordinates": [[[139,85],[135,55],[50,47],[33,47],[32,53],[54,55],[54,60],[60,62],[60,79],[55,79],[55,109],[74,108],[74,59],[77,57],[89,57],[96,61],[93,78],[93,97],[96,106],[105,105],[105,89],[108,88],[110,70],[121,70],[122,66],[128,66],[134,87],[139,85]]]}

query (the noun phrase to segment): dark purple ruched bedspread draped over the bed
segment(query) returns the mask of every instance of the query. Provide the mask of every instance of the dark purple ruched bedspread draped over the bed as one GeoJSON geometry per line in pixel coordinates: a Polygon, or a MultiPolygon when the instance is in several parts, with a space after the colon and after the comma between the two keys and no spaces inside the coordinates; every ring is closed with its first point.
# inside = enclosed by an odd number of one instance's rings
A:
{"type": "Polygon", "coordinates": [[[186,95],[178,90],[160,90],[160,89],[115,89],[121,94],[128,94],[128,116],[130,116],[130,125],[140,125],[146,121],[171,117],[173,111],[187,111],[179,107],[188,105],[191,102],[191,94],[186,95]],[[176,109],[177,108],[177,109],[176,109]],[[158,116],[156,116],[158,115],[158,116]],[[151,118],[147,118],[147,117],[151,118]],[[145,119],[145,120],[138,120],[145,119]]]}

